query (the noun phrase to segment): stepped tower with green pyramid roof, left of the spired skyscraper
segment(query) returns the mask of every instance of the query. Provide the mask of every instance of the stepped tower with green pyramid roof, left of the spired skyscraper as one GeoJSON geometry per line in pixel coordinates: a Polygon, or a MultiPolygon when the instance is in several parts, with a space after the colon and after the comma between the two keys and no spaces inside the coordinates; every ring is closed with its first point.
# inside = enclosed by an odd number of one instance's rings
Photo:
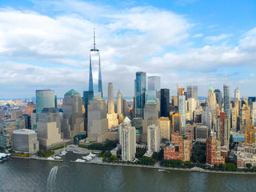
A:
{"type": "Polygon", "coordinates": [[[64,138],[74,138],[84,132],[84,118],[82,116],[82,98],[76,90],[66,92],[63,99],[62,132],[64,138]]]}

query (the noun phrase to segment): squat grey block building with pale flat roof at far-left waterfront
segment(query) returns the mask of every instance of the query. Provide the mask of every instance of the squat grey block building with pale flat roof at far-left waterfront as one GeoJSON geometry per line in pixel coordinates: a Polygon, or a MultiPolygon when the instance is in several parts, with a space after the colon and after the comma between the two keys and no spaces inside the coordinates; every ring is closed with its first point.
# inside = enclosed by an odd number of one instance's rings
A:
{"type": "Polygon", "coordinates": [[[14,130],[13,149],[16,153],[35,154],[39,150],[38,134],[34,130],[14,130]]]}

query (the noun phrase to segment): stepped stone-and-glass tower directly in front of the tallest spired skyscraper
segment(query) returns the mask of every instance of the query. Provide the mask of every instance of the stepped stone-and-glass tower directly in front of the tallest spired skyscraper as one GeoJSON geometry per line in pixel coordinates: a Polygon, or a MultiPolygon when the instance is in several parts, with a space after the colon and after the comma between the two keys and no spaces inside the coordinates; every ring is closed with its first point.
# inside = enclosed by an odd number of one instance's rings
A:
{"type": "Polygon", "coordinates": [[[106,102],[100,95],[90,100],[88,105],[88,138],[87,141],[101,141],[100,137],[108,131],[106,102]]]}

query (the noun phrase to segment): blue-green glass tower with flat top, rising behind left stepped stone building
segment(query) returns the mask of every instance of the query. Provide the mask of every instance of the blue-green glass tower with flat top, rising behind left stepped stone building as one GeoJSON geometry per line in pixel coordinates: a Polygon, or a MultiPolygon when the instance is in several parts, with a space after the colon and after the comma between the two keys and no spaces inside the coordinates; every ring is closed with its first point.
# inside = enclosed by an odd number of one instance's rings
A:
{"type": "Polygon", "coordinates": [[[36,111],[37,118],[44,108],[55,107],[54,90],[36,90],[36,111]]]}

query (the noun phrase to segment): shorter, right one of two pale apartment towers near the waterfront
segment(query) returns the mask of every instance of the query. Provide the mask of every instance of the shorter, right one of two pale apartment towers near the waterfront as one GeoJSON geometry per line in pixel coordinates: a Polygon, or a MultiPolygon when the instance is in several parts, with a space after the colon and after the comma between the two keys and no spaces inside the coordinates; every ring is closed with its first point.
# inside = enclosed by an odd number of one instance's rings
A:
{"type": "Polygon", "coordinates": [[[160,150],[160,128],[156,125],[148,126],[147,149],[149,152],[159,152],[160,150]]]}

